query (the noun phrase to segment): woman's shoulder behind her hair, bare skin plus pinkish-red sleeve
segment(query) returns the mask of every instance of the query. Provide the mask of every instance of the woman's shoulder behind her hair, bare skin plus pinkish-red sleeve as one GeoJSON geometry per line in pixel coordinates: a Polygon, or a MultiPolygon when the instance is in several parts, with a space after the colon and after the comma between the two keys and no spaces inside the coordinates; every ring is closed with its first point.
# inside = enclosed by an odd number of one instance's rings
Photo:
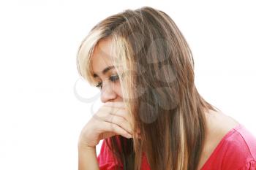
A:
{"type": "Polygon", "coordinates": [[[212,120],[214,121],[212,121],[213,125],[210,125],[211,139],[208,139],[210,147],[206,147],[212,149],[203,169],[207,167],[238,169],[238,167],[255,166],[256,170],[255,136],[245,125],[227,115],[217,115],[212,120]]]}

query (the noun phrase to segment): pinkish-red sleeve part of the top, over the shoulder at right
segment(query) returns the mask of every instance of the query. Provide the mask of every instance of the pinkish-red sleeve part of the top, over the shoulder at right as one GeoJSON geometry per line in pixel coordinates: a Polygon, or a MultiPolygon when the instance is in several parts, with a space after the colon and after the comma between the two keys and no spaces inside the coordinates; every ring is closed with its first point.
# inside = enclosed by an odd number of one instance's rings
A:
{"type": "Polygon", "coordinates": [[[256,138],[243,124],[236,125],[223,137],[202,169],[256,170],[256,138]]]}

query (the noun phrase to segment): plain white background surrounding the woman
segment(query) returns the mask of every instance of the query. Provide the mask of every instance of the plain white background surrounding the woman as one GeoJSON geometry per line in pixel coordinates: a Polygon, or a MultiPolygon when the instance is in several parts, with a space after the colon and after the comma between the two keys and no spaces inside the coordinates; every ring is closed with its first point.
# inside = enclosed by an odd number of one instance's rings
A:
{"type": "Polygon", "coordinates": [[[78,169],[80,130],[100,104],[78,75],[78,47],[99,20],[143,6],[173,18],[197,90],[256,136],[254,1],[0,1],[0,169],[78,169]]]}

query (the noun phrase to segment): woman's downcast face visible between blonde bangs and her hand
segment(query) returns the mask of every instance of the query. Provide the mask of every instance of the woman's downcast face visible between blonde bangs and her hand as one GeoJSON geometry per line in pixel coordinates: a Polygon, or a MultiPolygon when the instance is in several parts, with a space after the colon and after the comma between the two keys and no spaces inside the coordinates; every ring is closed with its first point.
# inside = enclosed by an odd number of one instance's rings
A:
{"type": "Polygon", "coordinates": [[[107,101],[123,101],[119,77],[111,57],[110,38],[101,39],[94,48],[91,64],[94,79],[101,90],[100,99],[103,103],[107,101]]]}

